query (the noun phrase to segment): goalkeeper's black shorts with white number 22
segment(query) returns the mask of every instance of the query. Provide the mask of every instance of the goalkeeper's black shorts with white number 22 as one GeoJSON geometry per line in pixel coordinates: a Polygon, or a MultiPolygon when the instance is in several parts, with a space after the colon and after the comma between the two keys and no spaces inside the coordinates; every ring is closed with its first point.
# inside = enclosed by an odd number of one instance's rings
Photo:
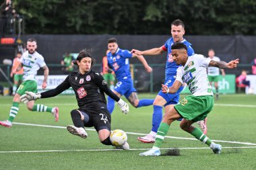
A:
{"type": "MultiPolygon", "coordinates": [[[[110,131],[111,129],[111,116],[106,109],[90,109],[90,108],[79,108],[79,111],[82,114],[86,114],[89,116],[89,121],[84,122],[85,127],[93,127],[97,130],[107,129],[110,131]]],[[[84,115],[85,116],[85,115],[84,115]]]]}

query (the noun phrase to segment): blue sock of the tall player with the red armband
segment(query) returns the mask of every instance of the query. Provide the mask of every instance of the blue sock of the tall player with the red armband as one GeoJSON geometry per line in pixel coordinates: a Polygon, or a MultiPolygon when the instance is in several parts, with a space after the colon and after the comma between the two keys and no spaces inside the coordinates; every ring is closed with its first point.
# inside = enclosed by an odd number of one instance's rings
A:
{"type": "Polygon", "coordinates": [[[162,122],[162,106],[154,105],[154,112],[152,117],[152,130],[153,132],[158,132],[158,127],[162,122]]]}

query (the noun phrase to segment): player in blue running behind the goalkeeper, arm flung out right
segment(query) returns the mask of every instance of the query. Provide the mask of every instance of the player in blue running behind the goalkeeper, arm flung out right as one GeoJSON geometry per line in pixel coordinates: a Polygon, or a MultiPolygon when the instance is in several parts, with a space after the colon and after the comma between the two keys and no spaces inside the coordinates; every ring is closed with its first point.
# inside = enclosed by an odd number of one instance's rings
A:
{"type": "MultiPolygon", "coordinates": [[[[128,101],[135,108],[142,106],[152,105],[154,99],[139,99],[137,97],[137,91],[133,87],[133,80],[131,79],[131,73],[129,69],[129,58],[137,57],[145,67],[148,73],[152,72],[152,68],[148,65],[147,61],[142,55],[131,53],[129,50],[122,50],[117,44],[117,39],[110,38],[108,40],[108,67],[113,69],[117,78],[117,85],[113,92],[121,97],[125,95],[128,101]]],[[[108,111],[110,114],[115,108],[115,101],[108,97],[108,111]]]]}

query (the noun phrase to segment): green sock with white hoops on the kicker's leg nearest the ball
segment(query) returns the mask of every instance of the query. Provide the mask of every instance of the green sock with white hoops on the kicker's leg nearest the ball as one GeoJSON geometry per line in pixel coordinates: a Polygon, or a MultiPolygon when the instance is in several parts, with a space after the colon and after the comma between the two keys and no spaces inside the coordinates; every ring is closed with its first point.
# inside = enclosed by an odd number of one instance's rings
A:
{"type": "Polygon", "coordinates": [[[154,143],[153,148],[160,148],[162,144],[162,140],[164,140],[164,136],[166,136],[170,125],[162,122],[158,128],[158,132],[156,133],[156,142],[154,143]]]}

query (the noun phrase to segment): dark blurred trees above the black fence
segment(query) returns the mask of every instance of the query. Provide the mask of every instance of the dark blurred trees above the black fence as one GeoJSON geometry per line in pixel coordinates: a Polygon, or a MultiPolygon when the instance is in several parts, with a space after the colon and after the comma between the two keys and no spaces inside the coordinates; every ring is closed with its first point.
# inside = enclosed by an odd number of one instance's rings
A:
{"type": "Polygon", "coordinates": [[[13,0],[26,34],[256,35],[255,0],[13,0]]]}

